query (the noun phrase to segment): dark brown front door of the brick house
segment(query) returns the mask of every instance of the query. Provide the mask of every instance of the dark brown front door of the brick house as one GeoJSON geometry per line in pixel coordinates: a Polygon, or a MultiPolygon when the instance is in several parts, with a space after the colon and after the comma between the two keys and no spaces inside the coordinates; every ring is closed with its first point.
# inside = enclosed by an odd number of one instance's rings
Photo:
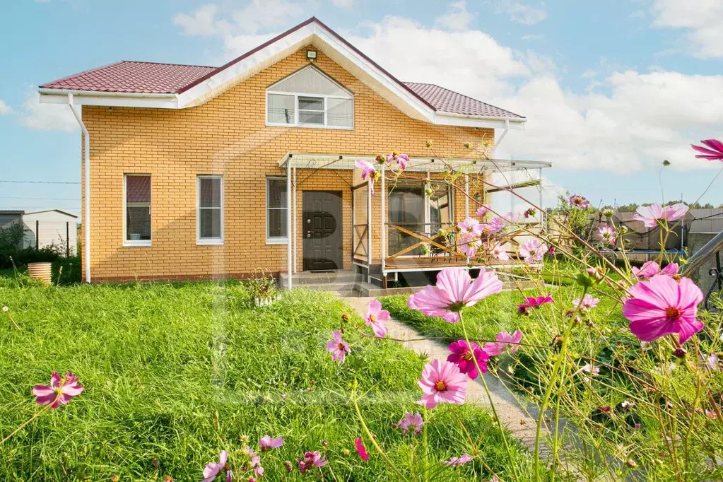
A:
{"type": "Polygon", "coordinates": [[[341,192],[304,191],[304,270],[341,270],[341,192]]]}

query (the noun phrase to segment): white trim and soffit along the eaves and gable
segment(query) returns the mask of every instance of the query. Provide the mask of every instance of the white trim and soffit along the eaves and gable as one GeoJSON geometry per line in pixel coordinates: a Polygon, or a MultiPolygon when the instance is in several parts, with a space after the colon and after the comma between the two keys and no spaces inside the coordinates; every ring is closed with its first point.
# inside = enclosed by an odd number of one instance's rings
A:
{"type": "Polygon", "coordinates": [[[361,56],[354,48],[341,41],[317,20],[283,35],[268,46],[255,51],[221,70],[217,74],[194,85],[180,94],[143,94],[127,92],[89,92],[61,89],[40,89],[41,103],[67,103],[68,93],[74,95],[74,103],[85,106],[119,106],[147,108],[189,108],[201,106],[218,97],[234,85],[238,85],[263,69],[285,59],[306,45],[313,45],[330,59],[348,70],[365,85],[377,92],[412,119],[429,124],[447,126],[486,127],[492,129],[520,129],[526,121],[516,117],[463,116],[450,112],[435,111],[422,99],[403,87],[400,82],[380,67],[361,56]]]}

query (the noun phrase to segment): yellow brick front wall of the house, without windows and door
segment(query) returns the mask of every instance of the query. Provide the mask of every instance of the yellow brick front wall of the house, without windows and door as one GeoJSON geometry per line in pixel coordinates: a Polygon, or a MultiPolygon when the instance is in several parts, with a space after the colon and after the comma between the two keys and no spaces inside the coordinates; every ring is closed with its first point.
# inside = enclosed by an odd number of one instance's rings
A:
{"type": "MultiPolygon", "coordinates": [[[[463,147],[466,142],[494,136],[490,129],[434,126],[411,119],[322,53],[315,64],[354,92],[355,128],[265,126],[266,87],[307,64],[305,48],[301,48],[195,108],[83,106],[83,121],[90,132],[93,280],[189,279],[286,271],[286,245],[265,241],[265,178],[286,175],[278,168],[278,160],[286,152],[376,155],[396,149],[408,155],[432,155],[425,146],[432,140],[438,155],[469,156],[463,147]],[[152,176],[151,246],[123,246],[125,173],[152,176]],[[196,244],[196,176],[200,174],[223,175],[222,246],[196,244]]],[[[297,178],[306,178],[305,173],[309,171],[297,170],[297,178]]],[[[298,186],[296,194],[301,231],[304,189],[343,193],[345,268],[351,267],[351,181],[351,171],[316,171],[298,186]]],[[[379,203],[375,195],[376,258],[379,203]]],[[[464,207],[461,195],[456,196],[455,205],[459,218],[464,207]]],[[[297,269],[301,270],[300,233],[297,239],[297,269]]]]}

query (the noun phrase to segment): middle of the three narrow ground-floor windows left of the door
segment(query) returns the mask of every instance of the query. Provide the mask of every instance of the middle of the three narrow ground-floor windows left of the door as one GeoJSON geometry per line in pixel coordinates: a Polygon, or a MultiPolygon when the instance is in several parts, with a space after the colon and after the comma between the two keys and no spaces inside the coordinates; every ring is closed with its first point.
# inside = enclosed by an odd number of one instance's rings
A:
{"type": "Polygon", "coordinates": [[[197,244],[223,244],[223,178],[198,176],[197,244]]]}

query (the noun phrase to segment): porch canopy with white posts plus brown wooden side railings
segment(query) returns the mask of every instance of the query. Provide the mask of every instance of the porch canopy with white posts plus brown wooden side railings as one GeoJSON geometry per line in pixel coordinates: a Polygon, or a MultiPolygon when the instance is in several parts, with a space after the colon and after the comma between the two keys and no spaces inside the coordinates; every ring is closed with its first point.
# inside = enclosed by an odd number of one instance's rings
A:
{"type": "MultiPolygon", "coordinates": [[[[356,168],[355,162],[357,160],[365,160],[369,163],[372,163],[373,165],[376,165],[378,169],[382,170],[382,173],[385,170],[384,164],[377,164],[376,162],[377,156],[376,155],[353,155],[353,154],[313,154],[313,153],[304,153],[304,152],[288,152],[286,155],[283,156],[281,160],[278,161],[278,166],[281,169],[286,169],[286,175],[287,178],[291,180],[291,182],[288,182],[286,184],[287,186],[287,199],[292,199],[291,205],[289,206],[290,209],[288,209],[288,219],[287,219],[287,225],[290,228],[289,231],[291,233],[291,236],[289,236],[289,243],[288,243],[288,272],[294,272],[296,270],[296,253],[297,253],[297,246],[296,246],[296,187],[299,184],[302,184],[304,180],[309,178],[309,174],[304,175],[303,178],[301,178],[300,181],[297,181],[296,178],[296,169],[304,169],[304,170],[312,170],[317,171],[320,169],[333,169],[333,170],[348,170],[348,171],[354,171],[355,169],[358,171],[358,168],[356,168]]],[[[405,172],[414,172],[414,173],[443,173],[445,171],[448,171],[449,168],[453,168],[453,170],[464,173],[464,181],[465,181],[465,192],[466,194],[469,194],[469,176],[479,176],[480,174],[484,175],[492,175],[492,174],[499,174],[500,176],[505,178],[504,185],[500,186],[499,189],[488,189],[487,192],[492,191],[510,191],[513,189],[518,189],[521,187],[529,187],[529,186],[538,186],[538,189],[540,190],[540,199],[542,199],[542,186],[540,186],[540,180],[542,179],[542,169],[543,168],[549,168],[552,167],[552,163],[548,162],[542,162],[542,161],[536,161],[536,160],[502,160],[502,159],[474,159],[474,158],[444,158],[443,160],[440,160],[440,158],[434,158],[432,156],[429,157],[410,157],[409,162],[407,164],[407,167],[405,169],[405,172]],[[537,176],[531,175],[531,173],[537,171],[539,173],[537,176]],[[522,182],[513,182],[512,179],[515,178],[515,176],[507,176],[507,173],[515,173],[520,172],[523,174],[523,181],[522,182]],[[535,179],[536,177],[536,179],[535,179]]],[[[427,174],[429,175],[429,174],[427,174]]],[[[356,181],[358,182],[359,179],[355,176],[356,181]]],[[[382,176],[380,179],[380,191],[382,193],[385,192],[385,178],[382,176]]],[[[364,202],[353,202],[352,203],[352,225],[353,225],[353,241],[352,241],[352,250],[353,250],[353,260],[354,264],[356,264],[359,267],[366,268],[367,269],[367,277],[368,280],[372,280],[372,196],[369,194],[369,183],[367,181],[358,182],[358,184],[351,186],[352,192],[356,194],[357,191],[360,192],[360,194],[364,195],[364,202]],[[364,211],[366,211],[364,214],[364,218],[366,218],[364,221],[365,223],[356,223],[358,215],[361,214],[361,209],[359,205],[365,205],[364,211]]],[[[403,272],[403,271],[410,271],[410,270],[424,270],[424,269],[432,269],[432,267],[421,267],[416,266],[413,268],[403,267],[400,264],[393,264],[390,259],[390,264],[387,265],[386,262],[386,249],[388,248],[386,239],[386,233],[388,228],[388,223],[386,220],[386,202],[387,199],[385,199],[385,196],[380,196],[380,203],[381,203],[381,212],[380,212],[380,228],[381,228],[381,267],[380,267],[380,274],[382,275],[383,279],[385,280],[388,273],[390,272],[403,272]]],[[[356,195],[354,196],[354,200],[356,201],[356,195]]],[[[466,197],[465,199],[465,215],[469,216],[469,197],[466,197]]],[[[539,214],[540,222],[542,222],[542,213],[539,214]]],[[[408,233],[408,231],[404,228],[400,228],[399,226],[395,225],[393,226],[396,229],[401,229],[401,231],[404,231],[408,233]]],[[[432,247],[437,246],[437,248],[442,249],[441,245],[435,241],[435,236],[432,235],[432,233],[429,233],[429,235],[424,236],[423,234],[414,235],[414,233],[410,233],[412,236],[416,236],[418,239],[416,241],[419,241],[417,244],[431,244],[432,247]]],[[[437,240],[438,241],[438,240],[437,240]]],[[[416,245],[414,245],[416,246],[416,245]]],[[[405,249],[401,250],[398,253],[393,254],[392,257],[396,257],[398,254],[409,254],[414,250],[414,246],[412,247],[406,247],[405,249]]],[[[449,253],[447,253],[449,254],[449,253]]],[[[390,257],[390,258],[392,258],[390,257]]],[[[408,258],[406,258],[408,260],[408,258]]],[[[447,258],[448,259],[448,258],[447,258]]],[[[467,265],[469,263],[469,259],[464,260],[466,261],[464,265],[467,265]]],[[[379,267],[377,267],[379,268],[379,267]]],[[[289,276],[289,280],[291,280],[291,276],[289,276]]]]}

